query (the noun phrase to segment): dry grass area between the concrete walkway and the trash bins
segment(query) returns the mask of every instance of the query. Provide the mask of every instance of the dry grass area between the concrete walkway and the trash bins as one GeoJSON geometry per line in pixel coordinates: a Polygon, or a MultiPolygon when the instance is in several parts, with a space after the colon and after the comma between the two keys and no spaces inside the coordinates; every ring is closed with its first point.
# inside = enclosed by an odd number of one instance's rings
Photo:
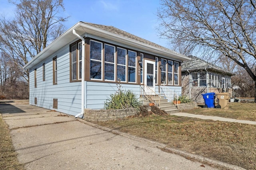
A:
{"type": "Polygon", "coordinates": [[[238,103],[232,102],[227,110],[216,108],[196,108],[190,110],[182,110],[186,113],[194,113],[208,116],[227,117],[239,120],[256,121],[256,104],[255,103],[238,103]]]}

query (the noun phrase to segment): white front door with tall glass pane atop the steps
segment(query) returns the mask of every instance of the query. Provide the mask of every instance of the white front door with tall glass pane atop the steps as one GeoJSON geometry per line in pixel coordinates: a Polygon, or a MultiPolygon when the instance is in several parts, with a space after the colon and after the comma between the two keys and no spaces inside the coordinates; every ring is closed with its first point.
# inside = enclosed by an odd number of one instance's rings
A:
{"type": "Polygon", "coordinates": [[[155,61],[144,60],[144,87],[146,94],[155,94],[155,61]]]}

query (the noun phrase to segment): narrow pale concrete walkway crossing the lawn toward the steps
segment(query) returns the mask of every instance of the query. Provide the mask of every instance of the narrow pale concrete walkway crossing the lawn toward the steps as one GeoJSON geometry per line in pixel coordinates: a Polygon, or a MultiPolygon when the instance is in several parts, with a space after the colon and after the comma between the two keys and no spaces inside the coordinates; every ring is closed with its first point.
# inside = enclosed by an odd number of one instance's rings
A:
{"type": "Polygon", "coordinates": [[[170,115],[184,116],[184,117],[194,117],[194,118],[199,118],[199,119],[210,119],[210,120],[214,120],[214,121],[228,121],[228,122],[236,122],[236,123],[245,123],[245,124],[256,125],[256,121],[238,120],[238,119],[231,119],[231,118],[218,117],[218,116],[205,116],[205,115],[183,113],[183,112],[171,113],[170,115]]]}

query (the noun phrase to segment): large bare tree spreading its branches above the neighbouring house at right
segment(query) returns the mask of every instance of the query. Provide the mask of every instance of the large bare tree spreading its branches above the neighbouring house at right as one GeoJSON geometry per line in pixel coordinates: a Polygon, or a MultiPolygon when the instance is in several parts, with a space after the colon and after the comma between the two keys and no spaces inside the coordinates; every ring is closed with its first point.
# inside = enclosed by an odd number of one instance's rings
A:
{"type": "Polygon", "coordinates": [[[161,5],[160,35],[183,54],[232,59],[254,81],[256,102],[256,1],[161,0],[161,5]]]}

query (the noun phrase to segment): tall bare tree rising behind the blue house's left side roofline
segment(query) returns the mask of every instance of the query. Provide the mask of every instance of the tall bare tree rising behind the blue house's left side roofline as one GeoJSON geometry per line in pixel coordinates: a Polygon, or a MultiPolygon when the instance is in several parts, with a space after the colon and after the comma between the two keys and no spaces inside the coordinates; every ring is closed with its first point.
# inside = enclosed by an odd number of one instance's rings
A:
{"type": "MultiPolygon", "coordinates": [[[[10,1],[16,5],[15,17],[0,18],[2,51],[8,53],[18,70],[34,58],[46,45],[64,32],[62,0],[10,1]]],[[[22,73],[28,81],[29,72],[22,73]]]]}

